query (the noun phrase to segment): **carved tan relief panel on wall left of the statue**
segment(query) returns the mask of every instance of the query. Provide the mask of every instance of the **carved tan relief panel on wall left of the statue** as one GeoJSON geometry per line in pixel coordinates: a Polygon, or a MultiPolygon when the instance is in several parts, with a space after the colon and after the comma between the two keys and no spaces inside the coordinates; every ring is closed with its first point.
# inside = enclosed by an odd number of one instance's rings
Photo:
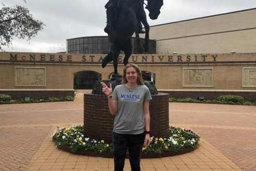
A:
{"type": "Polygon", "coordinates": [[[15,67],[15,85],[28,87],[46,86],[45,67],[15,67]]]}

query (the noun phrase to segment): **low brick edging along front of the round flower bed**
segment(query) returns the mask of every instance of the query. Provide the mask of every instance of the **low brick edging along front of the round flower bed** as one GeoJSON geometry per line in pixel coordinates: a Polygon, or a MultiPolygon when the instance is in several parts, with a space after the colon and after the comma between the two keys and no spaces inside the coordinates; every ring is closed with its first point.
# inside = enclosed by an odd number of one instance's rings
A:
{"type": "MultiPolygon", "coordinates": [[[[160,153],[160,154],[157,154],[157,153],[144,154],[144,153],[142,153],[141,159],[160,158],[160,157],[181,155],[181,154],[185,154],[185,153],[189,153],[191,151],[194,151],[197,147],[198,147],[198,144],[194,148],[182,149],[182,150],[178,150],[178,151],[175,151],[175,152],[168,151],[168,152],[163,152],[163,153],[160,153]]],[[[63,150],[63,151],[72,153],[72,150],[71,150],[70,147],[62,146],[62,147],[58,147],[58,148],[63,150]]],[[[75,154],[82,154],[82,155],[93,156],[93,157],[113,158],[113,153],[98,153],[98,152],[95,152],[95,151],[76,151],[75,154]]],[[[129,155],[126,154],[125,158],[129,159],[129,155]]]]}

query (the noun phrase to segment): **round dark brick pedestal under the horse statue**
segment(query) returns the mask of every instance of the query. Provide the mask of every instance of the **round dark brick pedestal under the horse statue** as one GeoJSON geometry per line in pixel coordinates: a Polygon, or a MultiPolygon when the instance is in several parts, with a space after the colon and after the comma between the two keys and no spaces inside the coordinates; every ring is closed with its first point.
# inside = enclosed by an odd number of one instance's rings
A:
{"type": "MultiPolygon", "coordinates": [[[[152,95],[150,100],[150,136],[169,138],[169,94],[152,95]]],[[[84,94],[84,134],[112,141],[114,115],[109,113],[105,95],[84,94]]]]}

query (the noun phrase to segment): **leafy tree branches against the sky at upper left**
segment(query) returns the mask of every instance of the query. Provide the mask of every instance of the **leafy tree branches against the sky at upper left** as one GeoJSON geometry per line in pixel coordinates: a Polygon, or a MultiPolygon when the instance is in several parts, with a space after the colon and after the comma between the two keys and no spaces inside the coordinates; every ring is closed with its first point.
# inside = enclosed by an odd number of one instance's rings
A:
{"type": "MultiPolygon", "coordinates": [[[[25,1],[24,1],[25,2],[25,1]]],[[[6,7],[2,3],[0,9],[0,50],[11,44],[13,37],[29,41],[31,37],[43,29],[42,21],[35,20],[29,10],[22,6],[6,7]]]]}

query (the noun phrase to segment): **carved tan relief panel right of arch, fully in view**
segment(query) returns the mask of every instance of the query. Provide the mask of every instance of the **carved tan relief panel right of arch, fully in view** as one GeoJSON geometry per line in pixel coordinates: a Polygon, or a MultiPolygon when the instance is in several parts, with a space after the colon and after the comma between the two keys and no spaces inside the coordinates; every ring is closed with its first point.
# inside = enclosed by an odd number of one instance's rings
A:
{"type": "Polygon", "coordinates": [[[183,68],[183,87],[213,87],[213,68],[183,68]]]}

